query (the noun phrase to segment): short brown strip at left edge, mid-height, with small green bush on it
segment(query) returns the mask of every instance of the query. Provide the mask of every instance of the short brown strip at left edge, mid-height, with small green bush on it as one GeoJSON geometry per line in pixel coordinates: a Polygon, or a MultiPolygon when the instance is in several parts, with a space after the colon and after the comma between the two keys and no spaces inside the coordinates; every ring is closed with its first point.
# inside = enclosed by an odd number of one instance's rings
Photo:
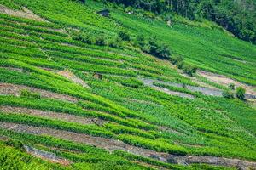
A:
{"type": "Polygon", "coordinates": [[[56,94],[56,93],[38,89],[38,88],[31,88],[23,85],[16,85],[16,84],[9,84],[9,83],[0,83],[0,95],[20,96],[20,93],[22,90],[28,90],[33,93],[39,93],[44,98],[61,99],[61,100],[66,100],[68,102],[78,101],[78,99],[68,95],[56,94]]]}

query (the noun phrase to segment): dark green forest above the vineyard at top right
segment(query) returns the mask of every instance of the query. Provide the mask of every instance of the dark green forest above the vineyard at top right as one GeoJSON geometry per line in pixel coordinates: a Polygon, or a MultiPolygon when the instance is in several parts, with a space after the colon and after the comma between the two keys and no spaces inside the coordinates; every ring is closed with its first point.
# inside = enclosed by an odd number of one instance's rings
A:
{"type": "Polygon", "coordinates": [[[256,43],[256,1],[254,0],[102,0],[154,14],[176,13],[190,20],[212,20],[236,37],[256,43]]]}

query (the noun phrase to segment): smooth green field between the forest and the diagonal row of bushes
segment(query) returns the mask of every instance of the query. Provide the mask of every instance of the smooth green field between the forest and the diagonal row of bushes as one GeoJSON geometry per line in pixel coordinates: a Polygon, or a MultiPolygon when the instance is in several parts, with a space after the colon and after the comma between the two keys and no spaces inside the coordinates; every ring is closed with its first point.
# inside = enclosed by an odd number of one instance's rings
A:
{"type": "MultiPolygon", "coordinates": [[[[93,1],[88,1],[88,4],[92,8],[103,8],[101,4],[93,1]]],[[[249,42],[230,37],[226,32],[214,27],[173,23],[170,28],[162,21],[145,20],[115,9],[111,10],[111,15],[131,34],[157,37],[169,45],[173,54],[183,56],[186,62],[197,65],[202,70],[217,72],[256,85],[256,48],[249,42]]]]}

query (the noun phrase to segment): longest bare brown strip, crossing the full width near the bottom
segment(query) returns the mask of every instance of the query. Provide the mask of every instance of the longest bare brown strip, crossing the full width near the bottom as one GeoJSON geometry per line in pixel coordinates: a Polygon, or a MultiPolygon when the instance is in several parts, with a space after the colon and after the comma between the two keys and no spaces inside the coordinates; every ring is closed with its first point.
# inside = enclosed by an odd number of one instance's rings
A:
{"type": "Polygon", "coordinates": [[[0,122],[0,127],[20,133],[32,133],[37,135],[46,134],[55,138],[67,139],[73,142],[94,145],[96,147],[109,150],[110,152],[113,150],[125,150],[137,156],[149,157],[158,161],[169,163],[183,165],[188,165],[191,163],[206,163],[218,166],[237,167],[241,170],[246,170],[248,168],[256,169],[256,162],[253,161],[241,161],[238,159],[228,159],[214,156],[174,156],[162,152],[156,152],[153,150],[146,150],[136,146],[131,146],[119,140],[92,137],[82,133],[73,133],[46,127],[31,127],[7,122],[0,122]]]}

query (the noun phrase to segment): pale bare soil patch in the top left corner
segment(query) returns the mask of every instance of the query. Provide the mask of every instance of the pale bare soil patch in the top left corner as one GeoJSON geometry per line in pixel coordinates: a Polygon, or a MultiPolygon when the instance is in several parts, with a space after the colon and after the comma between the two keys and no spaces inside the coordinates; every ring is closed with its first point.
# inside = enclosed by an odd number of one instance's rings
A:
{"type": "Polygon", "coordinates": [[[12,16],[18,16],[18,17],[22,17],[22,18],[26,18],[26,19],[47,22],[47,20],[44,20],[43,18],[39,17],[37,14],[34,14],[31,10],[29,10],[25,7],[23,7],[22,10],[12,10],[3,5],[0,5],[0,13],[9,14],[12,16]]]}

